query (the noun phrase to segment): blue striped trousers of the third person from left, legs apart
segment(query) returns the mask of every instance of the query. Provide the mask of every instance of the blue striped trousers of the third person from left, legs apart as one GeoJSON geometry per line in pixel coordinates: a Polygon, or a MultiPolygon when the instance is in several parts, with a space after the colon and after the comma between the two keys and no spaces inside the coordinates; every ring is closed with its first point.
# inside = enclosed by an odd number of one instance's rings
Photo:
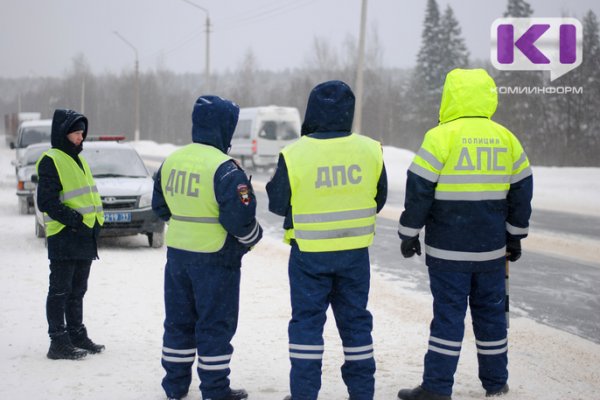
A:
{"type": "Polygon", "coordinates": [[[292,245],[289,260],[292,319],[288,327],[290,390],[294,400],[316,400],[321,388],[323,327],[329,305],[342,339],[342,378],[352,400],[372,400],[375,360],[367,310],[368,249],[302,252],[292,245]]]}

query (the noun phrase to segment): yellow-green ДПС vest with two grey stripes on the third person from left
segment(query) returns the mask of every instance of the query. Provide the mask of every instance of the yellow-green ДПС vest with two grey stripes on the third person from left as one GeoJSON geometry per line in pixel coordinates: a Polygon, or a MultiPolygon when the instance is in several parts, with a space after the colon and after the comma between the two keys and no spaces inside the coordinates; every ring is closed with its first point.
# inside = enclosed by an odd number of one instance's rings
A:
{"type": "Polygon", "coordinates": [[[303,136],[285,147],[295,239],[306,252],[368,247],[375,234],[381,144],[353,133],[335,139],[303,136]]]}

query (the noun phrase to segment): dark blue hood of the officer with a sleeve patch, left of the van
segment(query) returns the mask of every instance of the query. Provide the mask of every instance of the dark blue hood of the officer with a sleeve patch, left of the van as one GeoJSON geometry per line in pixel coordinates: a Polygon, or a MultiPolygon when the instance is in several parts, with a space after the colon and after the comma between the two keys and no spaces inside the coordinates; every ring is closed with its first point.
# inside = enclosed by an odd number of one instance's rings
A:
{"type": "Polygon", "coordinates": [[[192,141],[214,146],[227,153],[240,108],[219,96],[200,96],[192,111],[192,141]]]}

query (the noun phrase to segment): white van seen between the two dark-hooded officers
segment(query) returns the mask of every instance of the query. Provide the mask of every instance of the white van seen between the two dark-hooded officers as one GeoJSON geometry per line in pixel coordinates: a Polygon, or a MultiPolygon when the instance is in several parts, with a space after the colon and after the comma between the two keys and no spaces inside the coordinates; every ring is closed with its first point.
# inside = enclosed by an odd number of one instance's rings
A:
{"type": "Polygon", "coordinates": [[[300,137],[300,113],[295,107],[241,108],[229,155],[242,165],[268,167],[277,164],[279,152],[300,137]]]}

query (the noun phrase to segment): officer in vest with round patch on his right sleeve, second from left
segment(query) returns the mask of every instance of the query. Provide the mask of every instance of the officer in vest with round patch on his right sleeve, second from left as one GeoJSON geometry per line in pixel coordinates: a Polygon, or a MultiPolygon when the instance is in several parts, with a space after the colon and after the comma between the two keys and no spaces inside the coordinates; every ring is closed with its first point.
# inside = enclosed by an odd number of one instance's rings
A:
{"type": "Polygon", "coordinates": [[[164,161],[152,208],[169,222],[165,267],[162,386],[186,396],[198,358],[202,398],[239,400],[229,386],[230,342],[237,329],[242,256],[262,237],[256,198],[242,168],[227,155],[238,106],[202,96],[192,112],[192,144],[164,161]]]}

